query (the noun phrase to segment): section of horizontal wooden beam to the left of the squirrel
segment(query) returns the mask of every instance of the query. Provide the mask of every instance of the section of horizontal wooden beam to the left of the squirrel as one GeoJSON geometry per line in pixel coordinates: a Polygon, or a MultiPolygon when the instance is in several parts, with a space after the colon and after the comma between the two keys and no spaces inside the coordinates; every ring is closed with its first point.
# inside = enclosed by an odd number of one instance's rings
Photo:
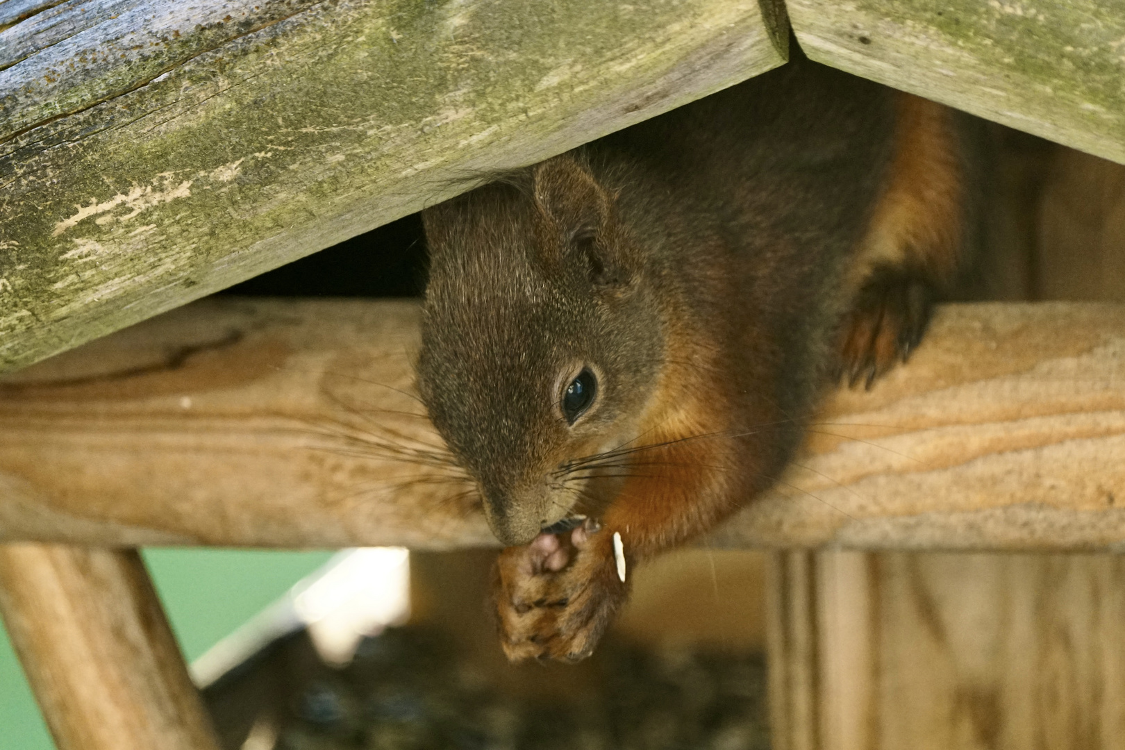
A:
{"type": "Polygon", "coordinates": [[[0,540],[492,544],[459,484],[386,448],[434,440],[410,416],[417,313],[207,300],[9,376],[0,540]]]}

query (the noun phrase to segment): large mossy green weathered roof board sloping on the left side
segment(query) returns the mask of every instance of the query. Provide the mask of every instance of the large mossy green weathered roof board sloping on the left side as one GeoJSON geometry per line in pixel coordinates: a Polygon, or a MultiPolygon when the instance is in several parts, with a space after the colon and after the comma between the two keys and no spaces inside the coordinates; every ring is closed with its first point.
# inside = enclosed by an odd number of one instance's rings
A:
{"type": "Polygon", "coordinates": [[[0,371],[778,65],[764,2],[70,0],[0,31],[0,371]]]}

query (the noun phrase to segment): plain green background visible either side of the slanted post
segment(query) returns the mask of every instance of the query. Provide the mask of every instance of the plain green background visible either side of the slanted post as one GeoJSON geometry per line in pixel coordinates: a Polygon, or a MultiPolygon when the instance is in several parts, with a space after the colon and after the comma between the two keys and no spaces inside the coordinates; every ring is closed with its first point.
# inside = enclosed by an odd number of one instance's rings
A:
{"type": "MultiPolygon", "coordinates": [[[[332,552],[150,549],[144,551],[190,662],[289,587],[324,564],[332,552]]],[[[0,750],[54,750],[43,716],[0,627],[0,750]]]]}

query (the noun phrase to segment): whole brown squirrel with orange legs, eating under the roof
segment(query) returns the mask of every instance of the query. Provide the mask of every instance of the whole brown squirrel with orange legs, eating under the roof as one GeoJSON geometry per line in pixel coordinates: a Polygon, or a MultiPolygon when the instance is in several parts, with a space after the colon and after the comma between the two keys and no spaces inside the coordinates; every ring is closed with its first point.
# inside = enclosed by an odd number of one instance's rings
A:
{"type": "Polygon", "coordinates": [[[796,53],[425,209],[417,385],[506,545],[507,657],[590,656],[633,564],[766,490],[834,377],[904,360],[964,204],[953,110],[796,53]]]}

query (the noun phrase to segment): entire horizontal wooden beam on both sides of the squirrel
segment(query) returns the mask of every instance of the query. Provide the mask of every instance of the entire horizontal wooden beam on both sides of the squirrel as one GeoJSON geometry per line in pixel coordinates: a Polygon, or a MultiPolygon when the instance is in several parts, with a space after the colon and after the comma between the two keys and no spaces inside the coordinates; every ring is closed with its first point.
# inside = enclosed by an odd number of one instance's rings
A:
{"type": "MultiPolygon", "coordinates": [[[[9,376],[0,539],[493,544],[461,480],[396,458],[438,441],[410,395],[416,316],[207,301],[9,376]]],[[[708,543],[1119,550],[1122,455],[1125,306],[947,306],[708,543]]]]}

